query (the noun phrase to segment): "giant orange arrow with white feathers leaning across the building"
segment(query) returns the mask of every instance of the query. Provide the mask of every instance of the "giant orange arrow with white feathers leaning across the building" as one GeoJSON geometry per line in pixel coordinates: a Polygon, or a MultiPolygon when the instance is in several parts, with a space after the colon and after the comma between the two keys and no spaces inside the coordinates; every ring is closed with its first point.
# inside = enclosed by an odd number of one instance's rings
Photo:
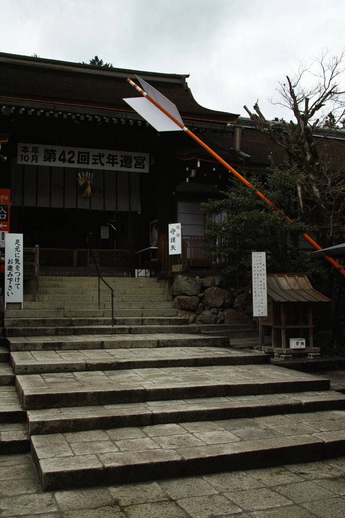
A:
{"type": "MultiPolygon", "coordinates": [[[[269,199],[266,198],[260,191],[257,191],[255,187],[243,178],[231,165],[227,164],[217,153],[212,151],[211,148],[206,146],[206,144],[200,140],[194,133],[192,133],[188,128],[186,128],[181,119],[180,113],[176,108],[175,104],[171,103],[169,99],[167,99],[164,95],[162,95],[158,90],[151,87],[149,83],[144,81],[138,76],[141,86],[145,88],[146,92],[143,91],[140,87],[138,87],[135,82],[133,82],[130,78],[127,79],[128,83],[132,85],[138,92],[142,94],[143,97],[130,97],[123,99],[127,104],[132,106],[132,108],[143,117],[143,119],[147,120],[149,124],[151,124],[158,132],[163,131],[184,131],[188,133],[188,135],[194,140],[196,140],[200,146],[202,146],[206,151],[208,151],[218,162],[220,162],[226,169],[232,172],[236,178],[238,178],[242,183],[247,185],[250,189],[254,189],[257,196],[264,200],[272,209],[278,210],[281,214],[284,215],[284,218],[287,221],[293,223],[293,221],[286,216],[282,210],[278,209],[269,199]]],[[[322,250],[320,245],[315,242],[308,234],[302,234],[302,236],[310,243],[315,249],[322,250]]],[[[327,261],[336,268],[341,275],[345,277],[345,269],[343,269],[332,257],[325,256],[327,261]]]]}

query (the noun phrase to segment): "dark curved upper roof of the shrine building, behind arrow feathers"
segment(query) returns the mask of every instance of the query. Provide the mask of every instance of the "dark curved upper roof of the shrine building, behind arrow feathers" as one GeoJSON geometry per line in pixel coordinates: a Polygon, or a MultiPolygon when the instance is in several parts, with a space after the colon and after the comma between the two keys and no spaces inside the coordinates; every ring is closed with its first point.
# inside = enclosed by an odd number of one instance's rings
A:
{"type": "Polygon", "coordinates": [[[126,112],[133,110],[123,97],[140,96],[128,85],[126,78],[136,81],[137,74],[155,83],[155,88],[176,104],[184,118],[223,123],[234,123],[238,118],[238,114],[200,106],[185,81],[188,75],[105,68],[5,53],[0,53],[0,73],[2,98],[126,112]]]}

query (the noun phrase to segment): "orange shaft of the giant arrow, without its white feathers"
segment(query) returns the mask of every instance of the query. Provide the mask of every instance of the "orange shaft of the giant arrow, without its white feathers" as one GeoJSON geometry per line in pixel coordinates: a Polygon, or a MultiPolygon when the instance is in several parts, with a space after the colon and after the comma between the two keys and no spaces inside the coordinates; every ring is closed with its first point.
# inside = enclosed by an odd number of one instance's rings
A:
{"type": "MultiPolygon", "coordinates": [[[[196,135],[194,135],[194,133],[192,133],[188,128],[186,128],[185,126],[183,126],[179,121],[177,121],[175,119],[175,117],[172,117],[172,115],[170,115],[169,112],[167,112],[164,108],[162,108],[162,106],[160,106],[158,103],[155,102],[155,100],[153,100],[149,95],[147,95],[146,92],[144,92],[140,87],[138,87],[137,84],[135,84],[130,78],[127,79],[128,83],[130,83],[136,90],[138,90],[138,92],[140,92],[142,95],[144,95],[147,99],[149,99],[149,101],[154,104],[157,108],[159,108],[161,111],[163,111],[163,113],[166,114],[167,117],[169,117],[169,119],[171,119],[172,121],[175,122],[175,124],[177,124],[185,133],[188,133],[188,135],[192,138],[194,138],[194,140],[196,142],[198,142],[198,144],[200,144],[200,146],[202,146],[204,149],[206,149],[206,151],[208,151],[210,153],[210,155],[212,155],[216,160],[218,160],[218,162],[220,162],[224,167],[226,167],[226,169],[228,169],[230,172],[232,172],[232,174],[234,176],[236,176],[236,178],[238,178],[242,183],[244,183],[245,185],[247,185],[247,187],[249,187],[250,189],[254,189],[255,193],[257,194],[257,196],[261,199],[264,200],[265,203],[267,203],[267,205],[269,205],[272,209],[274,210],[278,210],[278,212],[280,212],[281,214],[284,215],[284,218],[289,221],[290,223],[293,223],[293,221],[286,215],[283,213],[282,210],[278,209],[278,207],[276,207],[274,204],[272,204],[272,202],[270,202],[270,200],[268,198],[266,198],[266,196],[264,196],[260,191],[257,191],[254,186],[249,183],[248,180],[246,180],[246,178],[243,178],[243,176],[241,176],[237,171],[236,169],[234,169],[233,167],[231,167],[231,165],[227,164],[225,162],[225,160],[223,160],[217,153],[215,153],[211,148],[209,148],[202,140],[200,140],[196,135]]],[[[306,241],[308,241],[308,243],[310,243],[315,249],[317,250],[322,250],[322,247],[320,247],[320,245],[315,242],[313,239],[311,239],[311,237],[308,236],[308,234],[301,234],[302,237],[305,238],[306,241]]],[[[341,266],[334,260],[332,259],[332,257],[326,257],[325,258],[327,259],[327,261],[336,269],[338,269],[338,271],[340,272],[341,275],[343,275],[345,277],[345,269],[341,268],[341,266]]]]}

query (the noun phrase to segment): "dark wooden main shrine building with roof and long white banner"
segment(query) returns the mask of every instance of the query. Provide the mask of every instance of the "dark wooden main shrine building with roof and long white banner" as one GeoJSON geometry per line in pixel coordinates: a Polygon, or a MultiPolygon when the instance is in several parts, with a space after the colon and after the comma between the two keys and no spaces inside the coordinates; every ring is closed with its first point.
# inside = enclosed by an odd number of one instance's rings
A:
{"type": "Polygon", "coordinates": [[[156,244],[161,255],[172,221],[182,222],[190,260],[203,262],[199,204],[226,189],[228,171],[184,132],[157,133],[123,101],[140,95],[126,82],[135,74],[233,167],[267,174],[271,151],[283,159],[237,114],[200,106],[188,75],[0,53],[0,188],[11,190],[10,232],[39,245],[41,268],[82,268],[78,249],[115,248],[106,266],[134,272],[138,251],[156,244]]]}

